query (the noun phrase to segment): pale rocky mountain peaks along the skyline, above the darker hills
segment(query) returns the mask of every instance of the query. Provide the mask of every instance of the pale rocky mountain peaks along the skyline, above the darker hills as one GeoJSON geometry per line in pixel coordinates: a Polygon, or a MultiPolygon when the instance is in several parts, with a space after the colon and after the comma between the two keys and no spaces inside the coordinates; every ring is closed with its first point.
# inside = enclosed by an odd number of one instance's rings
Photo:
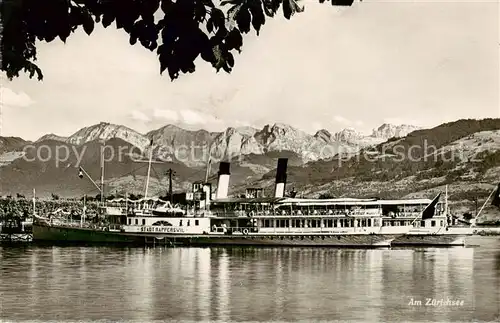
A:
{"type": "Polygon", "coordinates": [[[419,128],[411,125],[383,124],[374,129],[371,135],[363,135],[354,129],[344,129],[333,135],[328,130],[321,129],[310,135],[290,125],[276,123],[265,125],[262,129],[229,127],[221,132],[203,129],[193,131],[166,125],[141,134],[122,125],[101,122],[82,128],[69,137],[48,134],[36,142],[52,140],[79,146],[95,140],[118,138],[145,152],[152,140],[157,158],[179,159],[179,156],[175,156],[176,152],[179,155],[186,148],[193,151],[194,156],[182,158],[184,164],[193,167],[206,164],[208,155],[231,159],[234,156],[259,155],[271,151],[293,151],[301,155],[304,161],[324,159],[343,151],[355,152],[362,147],[381,143],[395,136],[401,137],[417,129],[419,128]],[[206,156],[201,156],[203,154],[206,156]]]}

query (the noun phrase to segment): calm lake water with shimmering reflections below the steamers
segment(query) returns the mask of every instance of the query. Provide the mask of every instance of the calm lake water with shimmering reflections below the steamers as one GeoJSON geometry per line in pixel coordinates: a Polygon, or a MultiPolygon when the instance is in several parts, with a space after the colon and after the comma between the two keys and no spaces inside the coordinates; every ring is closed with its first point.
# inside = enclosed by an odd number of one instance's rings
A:
{"type": "Polygon", "coordinates": [[[500,238],[468,243],[392,250],[4,246],[0,319],[499,321],[500,238]],[[457,304],[436,305],[440,299],[457,304]]]}

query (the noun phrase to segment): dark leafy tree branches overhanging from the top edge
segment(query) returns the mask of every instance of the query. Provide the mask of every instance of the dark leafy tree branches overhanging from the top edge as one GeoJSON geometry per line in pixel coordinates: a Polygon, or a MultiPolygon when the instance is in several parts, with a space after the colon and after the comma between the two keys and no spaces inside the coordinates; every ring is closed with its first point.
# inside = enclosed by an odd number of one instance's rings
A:
{"type": "MultiPolygon", "coordinates": [[[[63,42],[78,28],[91,35],[96,23],[115,23],[130,37],[156,51],[160,73],[173,81],[179,73],[193,73],[198,56],[217,71],[230,73],[243,34],[257,34],[281,8],[286,19],[304,10],[299,0],[4,0],[1,13],[1,69],[7,77],[20,72],[43,79],[34,62],[36,41],[63,42]],[[158,16],[161,16],[158,19],[158,16]]],[[[325,0],[319,0],[320,3],[325,0]]],[[[350,6],[354,0],[331,0],[334,6],[350,6]]]]}

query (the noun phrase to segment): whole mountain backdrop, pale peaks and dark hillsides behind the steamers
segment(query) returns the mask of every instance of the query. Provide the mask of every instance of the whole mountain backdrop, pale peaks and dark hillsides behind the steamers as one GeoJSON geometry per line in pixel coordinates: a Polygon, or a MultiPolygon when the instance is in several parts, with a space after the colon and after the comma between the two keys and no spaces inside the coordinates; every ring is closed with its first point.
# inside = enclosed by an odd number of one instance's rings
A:
{"type": "Polygon", "coordinates": [[[150,194],[166,192],[168,169],[174,171],[174,190],[189,190],[193,181],[205,179],[208,160],[214,184],[218,161],[231,161],[234,194],[248,186],[272,194],[279,157],[289,158],[287,187],[304,196],[430,197],[448,185],[450,199],[470,204],[484,199],[500,179],[500,119],[464,119],[432,129],[383,124],[369,135],[355,129],[308,134],[281,123],[220,132],[166,125],[141,134],[101,122],[69,137],[48,134],[35,142],[0,137],[0,195],[26,195],[33,188],[40,196],[97,194],[76,174],[82,166],[99,178],[102,140],[109,148],[108,193],[143,193],[150,154],[150,194]],[[66,155],[56,159],[56,152],[66,155]],[[405,154],[415,158],[398,159],[405,154]]]}

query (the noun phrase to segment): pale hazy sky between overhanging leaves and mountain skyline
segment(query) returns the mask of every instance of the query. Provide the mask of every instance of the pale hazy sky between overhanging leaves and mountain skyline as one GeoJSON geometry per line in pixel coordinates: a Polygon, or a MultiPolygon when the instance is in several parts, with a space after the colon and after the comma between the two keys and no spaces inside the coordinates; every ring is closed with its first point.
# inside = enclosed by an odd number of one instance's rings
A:
{"type": "Polygon", "coordinates": [[[171,82],[123,31],[40,43],[43,82],[2,80],[1,135],[70,135],[106,121],[140,132],[284,122],[314,133],[383,122],[499,117],[497,0],[304,1],[245,38],[231,74],[197,64],[171,82]]]}

